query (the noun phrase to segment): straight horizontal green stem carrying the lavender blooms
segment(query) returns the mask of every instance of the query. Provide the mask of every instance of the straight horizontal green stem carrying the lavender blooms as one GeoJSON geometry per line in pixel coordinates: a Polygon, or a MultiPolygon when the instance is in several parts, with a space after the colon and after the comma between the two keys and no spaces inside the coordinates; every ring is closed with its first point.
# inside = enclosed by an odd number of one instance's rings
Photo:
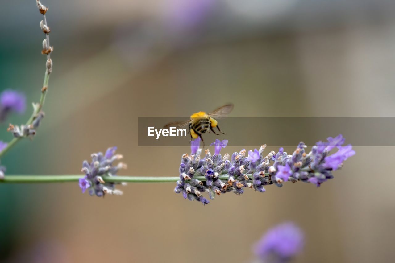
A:
{"type": "MultiPolygon", "coordinates": [[[[251,177],[251,175],[249,175],[251,177]]],[[[6,175],[0,183],[54,183],[54,182],[78,182],[83,175],[6,175]]],[[[206,181],[204,176],[196,176],[194,179],[206,181]]],[[[228,180],[228,175],[221,175],[221,180],[228,180]]],[[[179,177],[144,177],[144,176],[103,176],[105,182],[177,182],[179,177]]]]}

